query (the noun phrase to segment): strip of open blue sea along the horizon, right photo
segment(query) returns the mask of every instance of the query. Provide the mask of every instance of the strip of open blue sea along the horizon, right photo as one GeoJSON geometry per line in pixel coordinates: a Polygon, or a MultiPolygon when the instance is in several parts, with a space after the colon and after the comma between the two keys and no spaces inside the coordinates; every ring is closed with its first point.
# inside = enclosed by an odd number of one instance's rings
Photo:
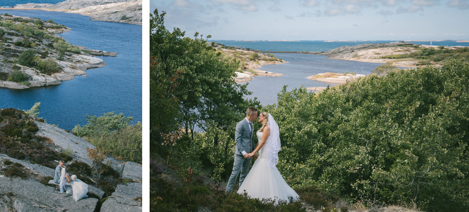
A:
{"type": "MultiPolygon", "coordinates": [[[[365,43],[388,43],[395,40],[378,40],[378,41],[341,41],[341,42],[324,42],[323,40],[301,40],[301,41],[235,41],[235,40],[209,40],[209,42],[222,43],[227,46],[239,46],[261,51],[308,51],[322,52],[341,46],[354,46],[365,43]]],[[[430,41],[411,41],[415,44],[430,45],[430,41]]],[[[469,42],[456,42],[454,40],[432,41],[431,45],[435,46],[469,46],[469,42]]]]}

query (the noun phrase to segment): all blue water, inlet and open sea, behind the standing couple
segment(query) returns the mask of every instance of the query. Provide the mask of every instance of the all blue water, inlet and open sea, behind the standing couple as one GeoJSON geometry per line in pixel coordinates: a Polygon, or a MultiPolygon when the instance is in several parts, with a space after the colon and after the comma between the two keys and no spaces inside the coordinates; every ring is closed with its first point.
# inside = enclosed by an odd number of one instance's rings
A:
{"type": "MultiPolygon", "coordinates": [[[[334,49],[344,45],[357,45],[364,43],[384,43],[391,42],[390,40],[380,41],[352,41],[352,42],[324,42],[324,41],[233,41],[233,40],[209,40],[223,43],[227,46],[239,46],[251,49],[258,49],[262,51],[311,51],[321,52],[334,49]]],[[[416,44],[426,44],[429,42],[412,42],[416,44]]],[[[467,42],[455,41],[432,41],[432,45],[449,45],[449,46],[469,46],[467,42]]],[[[288,53],[274,53],[278,58],[283,59],[289,63],[280,65],[266,65],[260,70],[272,71],[274,73],[283,73],[284,76],[271,77],[271,76],[256,76],[248,82],[240,82],[239,84],[248,83],[247,89],[253,92],[247,98],[255,98],[261,102],[262,105],[272,105],[277,103],[277,93],[281,91],[284,85],[288,85],[287,90],[291,91],[294,88],[301,86],[305,87],[327,87],[337,84],[319,82],[307,79],[308,76],[324,72],[339,72],[345,73],[354,72],[357,74],[370,74],[371,71],[379,65],[379,63],[363,63],[345,60],[330,60],[326,56],[313,55],[313,54],[288,54],[288,53]]],[[[314,92],[314,91],[312,91],[314,92]]]]}

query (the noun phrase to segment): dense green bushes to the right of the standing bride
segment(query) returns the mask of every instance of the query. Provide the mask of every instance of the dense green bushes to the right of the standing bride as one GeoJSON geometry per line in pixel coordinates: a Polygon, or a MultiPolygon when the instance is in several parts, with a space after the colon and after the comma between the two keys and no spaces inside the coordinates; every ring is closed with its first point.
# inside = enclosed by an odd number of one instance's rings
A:
{"type": "Polygon", "coordinates": [[[424,211],[469,203],[469,65],[370,75],[319,95],[283,90],[267,106],[280,128],[280,173],[370,203],[424,211]]]}

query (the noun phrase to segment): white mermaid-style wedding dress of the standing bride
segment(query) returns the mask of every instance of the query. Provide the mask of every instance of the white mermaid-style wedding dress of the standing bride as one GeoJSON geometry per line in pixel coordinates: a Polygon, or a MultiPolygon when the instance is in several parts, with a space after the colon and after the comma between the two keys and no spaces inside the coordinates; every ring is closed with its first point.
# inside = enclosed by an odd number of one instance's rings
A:
{"type": "MultiPolygon", "coordinates": [[[[259,143],[261,142],[262,134],[262,132],[256,133],[259,143]]],[[[269,162],[269,152],[273,152],[272,148],[273,147],[266,142],[259,150],[259,157],[256,162],[254,162],[254,165],[241,186],[239,186],[237,193],[242,194],[246,192],[250,198],[258,198],[260,200],[271,198],[275,200],[275,204],[278,204],[279,200],[288,203],[290,202],[290,198],[293,201],[298,201],[298,194],[288,186],[280,172],[278,172],[275,167],[276,162],[274,165],[269,162]]],[[[279,148],[280,146],[278,145],[278,149],[279,148]]]]}

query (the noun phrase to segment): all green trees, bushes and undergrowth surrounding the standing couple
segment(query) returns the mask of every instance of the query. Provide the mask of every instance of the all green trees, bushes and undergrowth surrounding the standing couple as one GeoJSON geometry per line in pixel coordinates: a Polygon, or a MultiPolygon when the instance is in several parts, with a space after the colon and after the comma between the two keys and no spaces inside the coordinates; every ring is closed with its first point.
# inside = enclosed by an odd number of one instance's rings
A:
{"type": "Polygon", "coordinates": [[[277,104],[261,106],[242,100],[248,91],[232,82],[235,65],[205,48],[203,39],[183,38],[177,28],[169,33],[164,14],[156,10],[150,21],[153,211],[469,207],[467,61],[409,70],[387,65],[320,93],[285,87],[277,104]],[[211,70],[222,62],[224,73],[211,70]],[[277,168],[301,202],[275,206],[224,192],[234,162],[235,124],[247,106],[275,117],[282,141],[277,168]]]}

